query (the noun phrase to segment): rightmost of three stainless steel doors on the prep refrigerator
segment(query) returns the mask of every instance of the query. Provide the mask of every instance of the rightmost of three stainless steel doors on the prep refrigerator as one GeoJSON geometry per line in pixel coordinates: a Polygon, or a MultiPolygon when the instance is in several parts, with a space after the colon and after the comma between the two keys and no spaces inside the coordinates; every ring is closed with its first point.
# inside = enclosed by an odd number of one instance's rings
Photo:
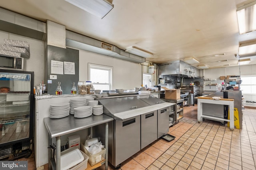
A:
{"type": "Polygon", "coordinates": [[[169,111],[170,107],[158,109],[157,111],[157,138],[169,131],[169,111]]]}

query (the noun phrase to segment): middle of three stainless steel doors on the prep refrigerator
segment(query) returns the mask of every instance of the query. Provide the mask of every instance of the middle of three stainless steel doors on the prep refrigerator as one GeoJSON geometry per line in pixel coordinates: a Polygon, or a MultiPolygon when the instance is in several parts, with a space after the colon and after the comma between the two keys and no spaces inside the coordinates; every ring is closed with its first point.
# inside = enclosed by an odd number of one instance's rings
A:
{"type": "Polygon", "coordinates": [[[140,149],[143,149],[157,139],[157,110],[141,115],[140,120],[140,149]]]}

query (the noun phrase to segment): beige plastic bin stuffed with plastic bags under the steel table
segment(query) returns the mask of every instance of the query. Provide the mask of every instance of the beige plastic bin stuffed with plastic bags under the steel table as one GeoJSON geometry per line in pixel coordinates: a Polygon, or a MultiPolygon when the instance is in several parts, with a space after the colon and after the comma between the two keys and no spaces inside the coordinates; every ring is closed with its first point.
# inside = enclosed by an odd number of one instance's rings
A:
{"type": "Polygon", "coordinates": [[[91,166],[94,166],[98,162],[101,162],[102,160],[105,159],[105,154],[106,154],[105,148],[102,149],[102,151],[92,155],[90,154],[90,152],[88,152],[84,144],[81,144],[81,145],[82,145],[82,151],[89,156],[88,162],[90,163],[91,166]]]}

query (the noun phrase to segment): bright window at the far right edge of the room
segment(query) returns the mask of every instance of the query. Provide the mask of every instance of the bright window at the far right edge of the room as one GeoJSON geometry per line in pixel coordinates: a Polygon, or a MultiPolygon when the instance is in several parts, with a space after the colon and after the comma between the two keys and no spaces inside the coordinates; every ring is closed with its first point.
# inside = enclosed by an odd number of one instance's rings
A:
{"type": "Polygon", "coordinates": [[[241,80],[240,90],[243,94],[256,94],[256,76],[241,76],[241,80]]]}

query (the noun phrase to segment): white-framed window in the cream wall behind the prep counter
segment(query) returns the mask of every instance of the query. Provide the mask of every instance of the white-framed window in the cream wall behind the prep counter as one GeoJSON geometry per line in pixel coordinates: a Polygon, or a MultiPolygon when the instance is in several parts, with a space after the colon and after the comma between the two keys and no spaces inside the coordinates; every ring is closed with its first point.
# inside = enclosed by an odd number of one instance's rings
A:
{"type": "Polygon", "coordinates": [[[88,64],[89,80],[95,90],[112,90],[112,67],[88,64]]]}

